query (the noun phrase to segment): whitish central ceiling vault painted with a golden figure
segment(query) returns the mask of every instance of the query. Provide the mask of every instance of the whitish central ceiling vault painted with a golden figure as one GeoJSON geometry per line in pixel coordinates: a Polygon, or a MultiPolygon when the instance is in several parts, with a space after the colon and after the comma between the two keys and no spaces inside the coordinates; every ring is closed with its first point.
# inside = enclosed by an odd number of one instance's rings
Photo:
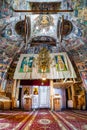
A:
{"type": "MultiPolygon", "coordinates": [[[[34,16],[35,17],[35,16],[34,16]]],[[[34,22],[32,22],[32,36],[35,35],[46,35],[52,33],[50,30],[54,31],[54,18],[51,15],[36,15],[35,18],[32,18],[34,22]]]]}

